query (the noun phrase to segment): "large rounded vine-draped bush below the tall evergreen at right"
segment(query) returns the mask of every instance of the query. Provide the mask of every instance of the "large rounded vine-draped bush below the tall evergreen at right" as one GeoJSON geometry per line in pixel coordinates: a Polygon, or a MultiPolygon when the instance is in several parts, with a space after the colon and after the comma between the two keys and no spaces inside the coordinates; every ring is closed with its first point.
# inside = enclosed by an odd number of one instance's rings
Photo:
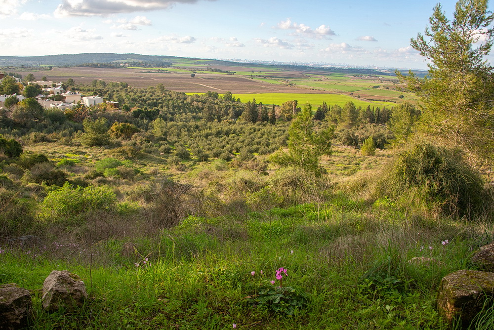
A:
{"type": "Polygon", "coordinates": [[[418,197],[425,207],[445,215],[469,216],[482,209],[483,181],[456,149],[417,144],[401,152],[392,166],[380,196],[402,203],[418,197]]]}

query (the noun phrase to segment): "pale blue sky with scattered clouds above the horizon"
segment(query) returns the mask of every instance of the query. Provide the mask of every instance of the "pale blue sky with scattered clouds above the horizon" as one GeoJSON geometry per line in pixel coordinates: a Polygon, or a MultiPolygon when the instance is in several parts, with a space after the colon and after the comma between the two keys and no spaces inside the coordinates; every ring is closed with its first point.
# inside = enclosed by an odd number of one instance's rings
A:
{"type": "MultiPolygon", "coordinates": [[[[0,56],[138,53],[426,69],[436,0],[0,0],[0,56]]],[[[455,1],[442,1],[451,18],[455,1]]]]}

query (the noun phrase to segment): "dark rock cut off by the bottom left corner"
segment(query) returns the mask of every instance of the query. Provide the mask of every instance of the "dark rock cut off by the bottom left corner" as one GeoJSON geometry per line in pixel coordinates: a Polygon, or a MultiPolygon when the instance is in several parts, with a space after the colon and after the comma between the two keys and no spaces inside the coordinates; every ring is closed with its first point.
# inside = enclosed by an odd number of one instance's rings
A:
{"type": "Polygon", "coordinates": [[[24,329],[32,308],[31,294],[15,284],[0,286],[0,329],[24,329]]]}

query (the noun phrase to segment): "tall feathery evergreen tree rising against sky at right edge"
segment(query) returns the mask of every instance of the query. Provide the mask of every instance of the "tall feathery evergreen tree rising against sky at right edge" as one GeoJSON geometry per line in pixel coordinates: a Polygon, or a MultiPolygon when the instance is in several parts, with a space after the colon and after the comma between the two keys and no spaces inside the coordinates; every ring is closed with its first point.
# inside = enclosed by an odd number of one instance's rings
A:
{"type": "Polygon", "coordinates": [[[494,14],[487,5],[487,0],[459,0],[452,21],[436,5],[425,36],[411,41],[430,62],[428,75],[397,76],[420,98],[424,132],[493,157],[494,68],[486,56],[493,45],[494,14]]]}

